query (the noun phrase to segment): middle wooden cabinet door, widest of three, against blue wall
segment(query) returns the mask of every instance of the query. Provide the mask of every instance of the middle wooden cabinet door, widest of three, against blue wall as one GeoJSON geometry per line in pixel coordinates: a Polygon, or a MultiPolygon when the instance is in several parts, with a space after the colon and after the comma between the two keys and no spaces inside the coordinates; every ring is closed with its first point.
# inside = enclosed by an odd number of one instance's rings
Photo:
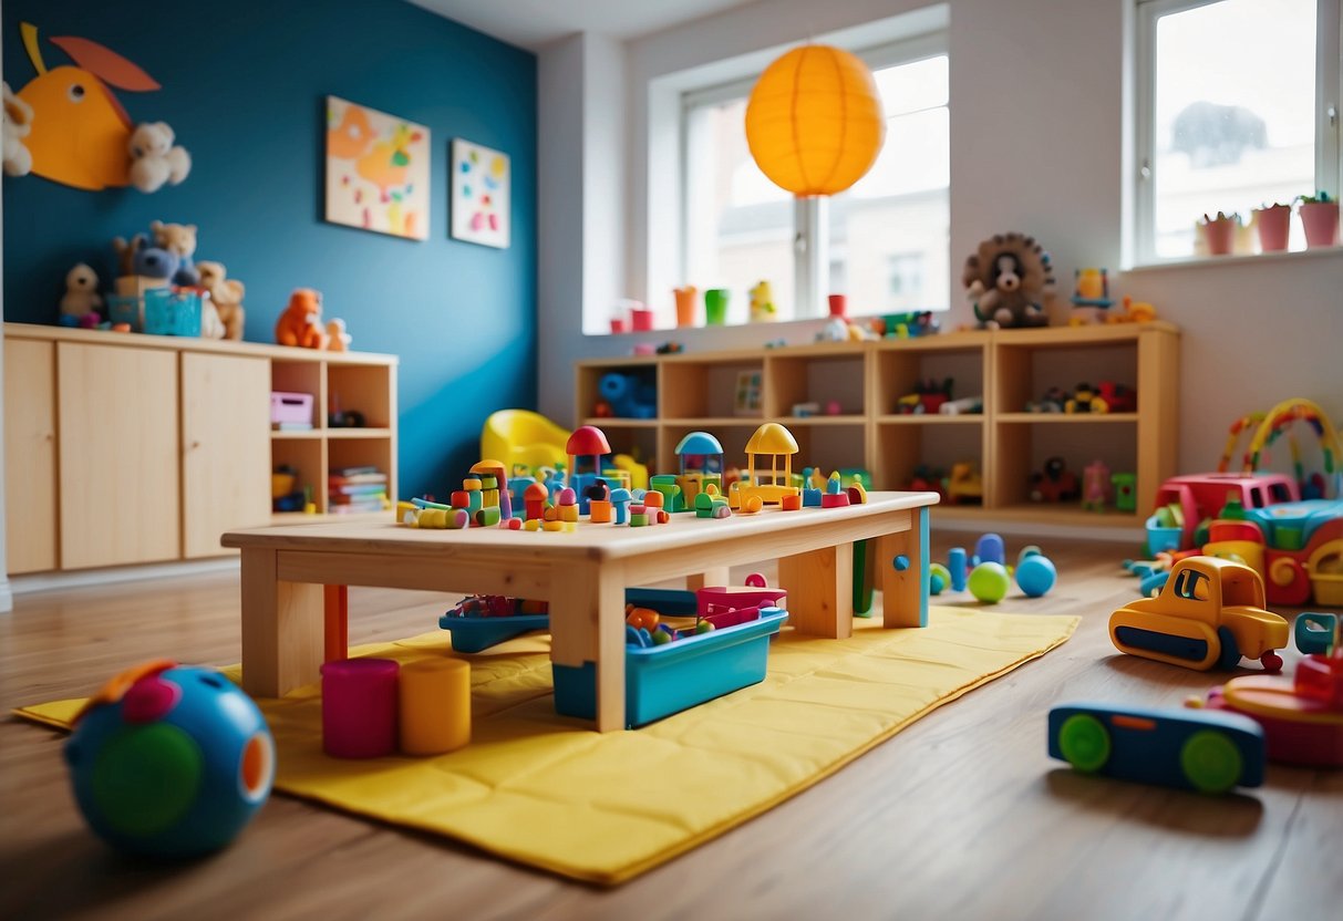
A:
{"type": "Polygon", "coordinates": [[[179,557],[177,353],[56,346],[60,567],[179,557]]]}

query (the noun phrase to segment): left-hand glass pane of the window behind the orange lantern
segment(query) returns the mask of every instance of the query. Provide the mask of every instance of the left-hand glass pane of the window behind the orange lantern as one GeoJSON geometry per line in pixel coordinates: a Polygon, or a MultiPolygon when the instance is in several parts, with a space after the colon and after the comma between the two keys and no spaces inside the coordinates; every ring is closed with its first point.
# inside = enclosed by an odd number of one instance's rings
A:
{"type": "Polygon", "coordinates": [[[768,281],[780,320],[794,316],[792,196],[747,146],[745,97],[686,113],[686,279],[731,291],[728,322],[748,316],[748,291],[768,281]]]}

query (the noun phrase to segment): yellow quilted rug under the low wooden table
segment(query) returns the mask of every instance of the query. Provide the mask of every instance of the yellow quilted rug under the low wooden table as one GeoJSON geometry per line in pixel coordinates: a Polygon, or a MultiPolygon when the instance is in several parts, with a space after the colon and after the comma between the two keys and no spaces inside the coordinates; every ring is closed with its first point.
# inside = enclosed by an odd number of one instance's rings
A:
{"type": "MultiPolygon", "coordinates": [[[[935,607],[928,623],[885,631],[860,620],[846,640],[786,628],[763,683],[606,734],[555,714],[548,639],[520,638],[469,657],[471,745],[434,759],[325,757],[313,685],[261,702],[278,746],[275,787],[576,879],[619,883],[1048,652],[1077,618],[935,607]]],[[[402,662],[449,652],[446,631],[355,650],[402,662]]],[[[236,667],[228,671],[236,678],[236,667]]],[[[19,714],[67,728],[81,702],[19,714]]]]}

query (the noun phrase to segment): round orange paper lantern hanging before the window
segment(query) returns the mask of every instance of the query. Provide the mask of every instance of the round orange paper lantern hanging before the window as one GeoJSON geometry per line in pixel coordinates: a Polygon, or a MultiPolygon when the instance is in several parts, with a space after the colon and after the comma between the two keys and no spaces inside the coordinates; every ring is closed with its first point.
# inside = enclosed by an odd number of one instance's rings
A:
{"type": "Polygon", "coordinates": [[[794,48],[760,74],[747,102],[751,156],[798,196],[843,192],[872,169],[885,137],[872,71],[842,48],[794,48]]]}

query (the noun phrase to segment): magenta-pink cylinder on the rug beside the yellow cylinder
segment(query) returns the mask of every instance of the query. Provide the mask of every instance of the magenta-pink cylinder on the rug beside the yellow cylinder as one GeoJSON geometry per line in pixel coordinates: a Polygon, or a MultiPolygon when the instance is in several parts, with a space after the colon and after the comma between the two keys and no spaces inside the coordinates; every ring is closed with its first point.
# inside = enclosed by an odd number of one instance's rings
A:
{"type": "Polygon", "coordinates": [[[344,659],[322,666],[322,750],[337,759],[376,759],[396,750],[396,675],[392,659],[344,659]]]}

